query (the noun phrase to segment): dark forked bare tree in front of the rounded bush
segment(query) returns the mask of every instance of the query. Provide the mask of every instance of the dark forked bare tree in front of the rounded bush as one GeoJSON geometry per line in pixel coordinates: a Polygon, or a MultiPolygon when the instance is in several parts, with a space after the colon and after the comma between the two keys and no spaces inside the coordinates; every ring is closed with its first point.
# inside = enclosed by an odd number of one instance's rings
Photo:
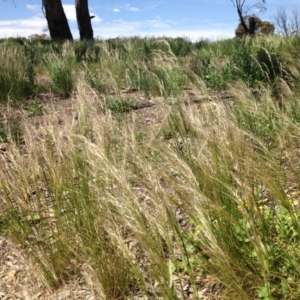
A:
{"type": "Polygon", "coordinates": [[[236,7],[240,24],[244,29],[246,35],[254,35],[256,28],[256,19],[254,16],[249,15],[252,9],[256,9],[259,12],[266,10],[266,0],[258,0],[252,5],[246,5],[246,0],[231,0],[233,5],[236,7]]]}

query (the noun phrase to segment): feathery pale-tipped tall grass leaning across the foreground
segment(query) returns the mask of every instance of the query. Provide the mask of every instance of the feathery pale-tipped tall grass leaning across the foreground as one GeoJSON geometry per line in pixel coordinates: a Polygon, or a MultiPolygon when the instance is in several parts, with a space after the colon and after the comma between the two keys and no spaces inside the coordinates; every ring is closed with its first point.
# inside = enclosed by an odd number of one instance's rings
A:
{"type": "Polygon", "coordinates": [[[296,142],[293,121],[272,112],[280,121],[270,132],[280,145],[273,153],[251,125],[266,126],[269,113],[255,99],[247,99],[248,115],[244,106],[216,105],[205,118],[178,104],[166,106],[161,135],[141,144],[134,123],[120,128],[99,114],[84,83],[77,90],[78,119],[63,132],[51,122],[42,136],[27,124],[30,158],[13,152],[1,174],[2,232],[30,244],[49,284],[88,265],[108,299],[147,294],[148,284],[174,299],[184,290],[172,274],[186,270],[195,291],[204,272],[232,297],[299,297],[298,204],[289,191],[299,174],[296,166],[287,172],[289,159],[277,161],[296,142]]]}

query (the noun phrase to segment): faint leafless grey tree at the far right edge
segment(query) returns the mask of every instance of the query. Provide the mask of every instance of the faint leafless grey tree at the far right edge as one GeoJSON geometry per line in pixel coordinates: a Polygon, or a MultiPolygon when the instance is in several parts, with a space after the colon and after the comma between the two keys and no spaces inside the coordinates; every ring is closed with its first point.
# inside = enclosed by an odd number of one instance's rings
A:
{"type": "Polygon", "coordinates": [[[294,7],[291,12],[287,12],[285,7],[280,7],[273,20],[278,34],[283,36],[300,34],[300,9],[298,7],[294,7]]]}

